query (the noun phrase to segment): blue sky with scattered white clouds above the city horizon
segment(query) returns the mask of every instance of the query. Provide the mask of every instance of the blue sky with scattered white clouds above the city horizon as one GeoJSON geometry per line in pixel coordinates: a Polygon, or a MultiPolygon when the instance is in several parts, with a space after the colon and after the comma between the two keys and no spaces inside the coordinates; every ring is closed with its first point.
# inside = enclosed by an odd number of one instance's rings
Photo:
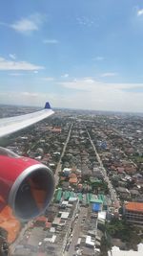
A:
{"type": "Polygon", "coordinates": [[[143,1],[0,5],[0,104],[143,112],[143,1]]]}

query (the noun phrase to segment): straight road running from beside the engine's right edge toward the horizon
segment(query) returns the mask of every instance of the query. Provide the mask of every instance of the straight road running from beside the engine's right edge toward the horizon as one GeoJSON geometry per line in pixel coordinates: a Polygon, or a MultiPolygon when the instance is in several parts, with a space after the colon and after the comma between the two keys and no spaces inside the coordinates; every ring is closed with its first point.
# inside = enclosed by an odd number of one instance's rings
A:
{"type": "Polygon", "coordinates": [[[70,130],[69,130],[69,133],[68,133],[66,142],[65,142],[64,147],[63,147],[63,151],[62,151],[62,153],[61,153],[60,159],[59,159],[59,161],[58,161],[58,164],[57,164],[57,167],[56,167],[56,170],[55,170],[55,174],[54,174],[55,187],[58,185],[58,182],[59,182],[59,175],[58,175],[58,174],[61,172],[61,169],[62,169],[61,160],[62,160],[62,157],[63,157],[64,154],[65,154],[65,151],[66,151],[66,148],[67,148],[67,144],[69,143],[69,140],[70,140],[70,137],[71,137],[72,126],[73,126],[73,123],[72,123],[72,125],[71,125],[70,130]]]}

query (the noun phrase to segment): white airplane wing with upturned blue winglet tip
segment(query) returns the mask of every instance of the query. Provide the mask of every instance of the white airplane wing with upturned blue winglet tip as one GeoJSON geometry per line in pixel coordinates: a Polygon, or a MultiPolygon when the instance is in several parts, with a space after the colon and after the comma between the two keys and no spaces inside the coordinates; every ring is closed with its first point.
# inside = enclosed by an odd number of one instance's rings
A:
{"type": "Polygon", "coordinates": [[[9,135],[15,131],[30,127],[31,125],[51,116],[54,111],[51,105],[46,103],[45,108],[30,114],[1,118],[0,119],[0,137],[9,135]]]}

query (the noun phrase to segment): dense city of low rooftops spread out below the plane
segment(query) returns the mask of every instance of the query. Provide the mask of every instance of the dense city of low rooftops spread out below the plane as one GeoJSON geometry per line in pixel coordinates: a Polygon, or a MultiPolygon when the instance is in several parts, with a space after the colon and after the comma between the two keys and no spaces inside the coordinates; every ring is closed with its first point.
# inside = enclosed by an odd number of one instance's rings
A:
{"type": "MultiPolygon", "coordinates": [[[[34,109],[2,105],[1,117],[4,108],[5,116],[34,109]]],[[[130,249],[141,255],[142,122],[137,114],[56,109],[49,119],[2,138],[2,147],[50,167],[55,192],[45,215],[35,220],[1,217],[1,250],[15,256],[112,250],[113,256],[117,246],[120,255],[130,249]]]]}

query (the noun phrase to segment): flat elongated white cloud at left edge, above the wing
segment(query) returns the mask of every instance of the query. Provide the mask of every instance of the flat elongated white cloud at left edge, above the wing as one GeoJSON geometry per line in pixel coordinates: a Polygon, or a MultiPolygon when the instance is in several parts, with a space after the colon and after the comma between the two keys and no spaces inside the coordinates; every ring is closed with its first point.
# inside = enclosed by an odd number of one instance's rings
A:
{"type": "Polygon", "coordinates": [[[27,61],[13,61],[0,57],[0,70],[40,70],[43,66],[38,66],[27,61]]]}

